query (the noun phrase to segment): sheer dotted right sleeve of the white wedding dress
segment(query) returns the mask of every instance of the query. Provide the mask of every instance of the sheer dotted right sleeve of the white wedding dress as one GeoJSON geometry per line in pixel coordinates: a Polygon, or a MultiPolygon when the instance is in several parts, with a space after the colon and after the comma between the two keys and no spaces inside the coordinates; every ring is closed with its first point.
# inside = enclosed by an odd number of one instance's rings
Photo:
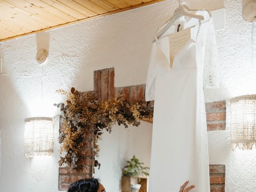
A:
{"type": "Polygon", "coordinates": [[[205,53],[204,53],[204,87],[219,87],[219,64],[216,36],[212,18],[208,21],[205,30],[205,53]]]}

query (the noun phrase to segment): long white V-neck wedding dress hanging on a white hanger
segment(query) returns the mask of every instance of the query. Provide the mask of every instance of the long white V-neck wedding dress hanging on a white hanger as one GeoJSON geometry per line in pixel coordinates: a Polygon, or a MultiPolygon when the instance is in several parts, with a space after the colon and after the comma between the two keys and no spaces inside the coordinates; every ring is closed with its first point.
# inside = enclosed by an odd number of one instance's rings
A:
{"type": "Polygon", "coordinates": [[[187,180],[196,186],[191,192],[210,192],[203,71],[204,86],[218,86],[217,48],[212,18],[206,11],[196,14],[208,21],[185,24],[195,27],[172,68],[168,34],[175,25],[152,46],[146,83],[146,100],[154,100],[149,192],[178,192],[187,180]]]}

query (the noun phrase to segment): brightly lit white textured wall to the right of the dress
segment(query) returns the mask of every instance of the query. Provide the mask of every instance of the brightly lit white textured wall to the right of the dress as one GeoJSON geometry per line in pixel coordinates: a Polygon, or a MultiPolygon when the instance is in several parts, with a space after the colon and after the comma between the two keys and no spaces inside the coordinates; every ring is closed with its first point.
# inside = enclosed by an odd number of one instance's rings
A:
{"type": "Polygon", "coordinates": [[[227,192],[256,192],[256,150],[230,150],[230,102],[243,94],[256,94],[256,26],[242,19],[242,4],[246,1],[224,1],[226,26],[216,32],[220,88],[205,90],[207,102],[227,100],[226,131],[208,132],[210,164],[226,164],[227,192]],[[254,31],[254,32],[253,32],[254,31]]]}

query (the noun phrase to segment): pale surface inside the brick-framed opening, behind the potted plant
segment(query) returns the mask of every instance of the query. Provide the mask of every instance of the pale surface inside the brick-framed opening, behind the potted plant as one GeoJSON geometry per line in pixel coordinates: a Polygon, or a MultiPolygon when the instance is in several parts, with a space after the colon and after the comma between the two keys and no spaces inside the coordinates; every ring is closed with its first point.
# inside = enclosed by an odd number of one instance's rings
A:
{"type": "Polygon", "coordinates": [[[152,124],[142,122],[139,127],[115,126],[111,134],[105,133],[100,144],[100,170],[94,177],[99,178],[109,192],[121,192],[122,168],[126,160],[135,155],[144,166],[150,166],[152,124]]]}

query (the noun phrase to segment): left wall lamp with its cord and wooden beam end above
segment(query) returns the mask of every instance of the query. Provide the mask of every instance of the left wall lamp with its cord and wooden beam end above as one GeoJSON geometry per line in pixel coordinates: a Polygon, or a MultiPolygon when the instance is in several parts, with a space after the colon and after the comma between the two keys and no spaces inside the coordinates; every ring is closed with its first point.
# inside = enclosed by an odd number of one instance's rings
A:
{"type": "MultiPolygon", "coordinates": [[[[44,64],[48,57],[49,34],[36,35],[37,49],[36,60],[42,64],[41,77],[41,104],[43,106],[43,77],[44,64]]],[[[26,157],[44,156],[53,154],[54,120],[51,117],[32,117],[25,119],[24,151],[26,157]]]]}

